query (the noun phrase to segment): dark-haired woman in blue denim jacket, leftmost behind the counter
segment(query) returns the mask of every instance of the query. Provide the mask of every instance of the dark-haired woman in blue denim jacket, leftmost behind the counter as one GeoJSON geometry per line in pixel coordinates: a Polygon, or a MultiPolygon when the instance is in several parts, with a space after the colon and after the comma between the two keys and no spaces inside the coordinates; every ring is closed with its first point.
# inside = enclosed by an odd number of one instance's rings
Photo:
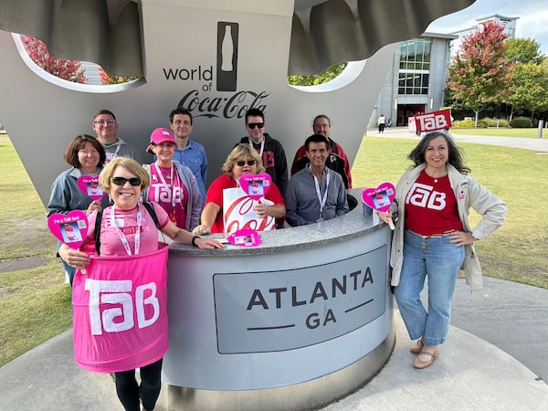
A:
{"type": "MultiPolygon", "coordinates": [[[[73,210],[81,210],[89,216],[92,211],[99,211],[103,206],[108,205],[106,196],[102,201],[91,200],[78,185],[79,177],[100,174],[106,159],[105,150],[100,142],[88,134],[81,134],[68,144],[64,158],[71,168],[59,174],[51,185],[47,216],[55,213],[68,214],[73,210]]],[[[68,281],[72,285],[75,269],[68,266],[62,258],[61,261],[65,266],[68,281]]]]}

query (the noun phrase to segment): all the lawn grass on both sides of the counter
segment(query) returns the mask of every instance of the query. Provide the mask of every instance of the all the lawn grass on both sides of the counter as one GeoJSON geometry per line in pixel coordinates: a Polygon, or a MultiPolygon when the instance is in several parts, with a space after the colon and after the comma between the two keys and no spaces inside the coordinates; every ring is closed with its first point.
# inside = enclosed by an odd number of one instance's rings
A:
{"type": "MultiPolygon", "coordinates": [[[[488,130],[494,135],[503,131],[488,130]]],[[[396,183],[409,166],[406,156],[416,142],[387,135],[365,137],[353,164],[353,185],[396,183]]],[[[484,274],[548,289],[548,190],[543,189],[548,155],[471,143],[461,146],[472,176],[509,209],[505,224],[477,243],[484,274]]],[[[47,256],[43,267],[0,273],[3,365],[67,330],[72,320],[70,288],[62,283],[63,269],[54,256],[56,241],[47,230],[44,206],[10,142],[0,142],[0,175],[0,261],[47,256]]],[[[472,214],[471,219],[478,221],[479,216],[472,214]]]]}

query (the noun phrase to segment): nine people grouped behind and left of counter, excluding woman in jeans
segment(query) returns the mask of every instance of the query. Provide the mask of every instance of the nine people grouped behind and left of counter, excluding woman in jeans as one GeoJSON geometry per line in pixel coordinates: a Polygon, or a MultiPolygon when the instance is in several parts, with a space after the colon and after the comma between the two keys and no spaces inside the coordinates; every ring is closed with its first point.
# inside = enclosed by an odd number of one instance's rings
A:
{"type": "MultiPolygon", "coordinates": [[[[348,211],[345,190],[352,187],[350,164],[342,147],[329,136],[327,116],[314,119],[314,134],[296,153],[290,179],[282,145],[265,132],[264,113],[250,109],[245,121],[248,136],[228,154],[222,174],[205,190],[207,156],[201,144],[190,140],[190,111],[175,109],[169,116],[169,128],[152,132],[147,147],[153,154],[150,164],[143,164],[138,150],[118,136],[114,113],[98,111],[91,124],[96,137],[81,134],[68,144],[64,158],[70,168],[52,184],[47,205],[48,216],[73,210],[88,216],[88,234],[79,249],[58,244],[70,284],[76,269],[84,273],[90,255],[122,257],[153,252],[159,247],[158,230],[174,242],[225,248],[215,239],[200,236],[225,232],[223,192],[239,186],[242,174],[270,175],[272,184],[265,200],[256,201],[253,209],[258,218],[275,218],[278,227],[286,218],[291,226],[300,226],[348,211]],[[104,193],[100,200],[81,191],[78,183],[82,176],[96,177],[104,193]]],[[[144,409],[153,409],[160,392],[161,369],[162,360],[142,366],[140,385],[134,369],[114,373],[116,391],[126,410],[138,410],[141,403],[144,409]]]]}

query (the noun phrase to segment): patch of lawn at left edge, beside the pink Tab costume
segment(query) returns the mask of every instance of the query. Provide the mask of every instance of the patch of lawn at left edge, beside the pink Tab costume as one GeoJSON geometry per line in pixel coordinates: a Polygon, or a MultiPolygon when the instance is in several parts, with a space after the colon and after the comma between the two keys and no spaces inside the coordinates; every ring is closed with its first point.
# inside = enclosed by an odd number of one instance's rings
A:
{"type": "Polygon", "coordinates": [[[0,175],[0,261],[47,256],[43,267],[0,273],[1,366],[67,330],[72,313],[46,210],[11,142],[0,142],[0,175]]]}

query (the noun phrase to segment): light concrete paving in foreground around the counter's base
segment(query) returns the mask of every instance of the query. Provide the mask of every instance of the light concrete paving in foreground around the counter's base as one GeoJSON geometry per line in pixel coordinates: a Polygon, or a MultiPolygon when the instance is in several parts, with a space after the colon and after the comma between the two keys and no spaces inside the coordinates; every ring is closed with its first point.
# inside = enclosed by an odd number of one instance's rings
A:
{"type": "MultiPolygon", "coordinates": [[[[484,289],[470,293],[464,279],[458,279],[457,326],[451,326],[431,367],[413,368],[411,342],[396,312],[395,350],[388,363],[364,388],[324,409],[543,409],[548,404],[548,385],[542,380],[548,372],[547,309],[548,290],[486,277],[484,289]]],[[[0,386],[2,411],[122,410],[108,374],[75,364],[71,331],[1,367],[0,386]]]]}

